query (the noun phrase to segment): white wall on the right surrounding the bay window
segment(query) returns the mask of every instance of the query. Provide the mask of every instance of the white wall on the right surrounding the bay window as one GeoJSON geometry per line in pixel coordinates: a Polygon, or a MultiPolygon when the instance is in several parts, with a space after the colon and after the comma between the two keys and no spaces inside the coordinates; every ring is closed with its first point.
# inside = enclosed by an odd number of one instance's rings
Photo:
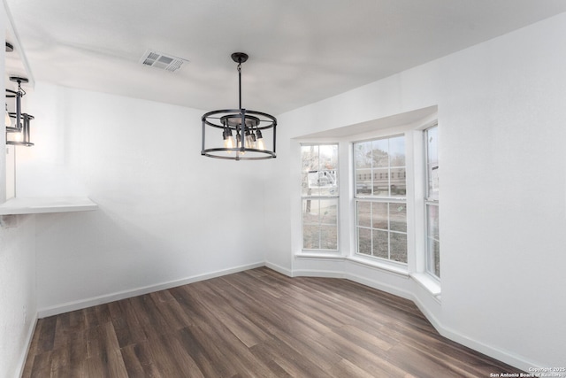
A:
{"type": "Polygon", "coordinates": [[[281,243],[267,260],[390,284],[341,260],[293,258],[299,165],[288,141],[438,105],[441,305],[397,281],[445,335],[524,369],[566,366],[564,35],[566,14],[280,115],[266,214],[281,243]]]}

